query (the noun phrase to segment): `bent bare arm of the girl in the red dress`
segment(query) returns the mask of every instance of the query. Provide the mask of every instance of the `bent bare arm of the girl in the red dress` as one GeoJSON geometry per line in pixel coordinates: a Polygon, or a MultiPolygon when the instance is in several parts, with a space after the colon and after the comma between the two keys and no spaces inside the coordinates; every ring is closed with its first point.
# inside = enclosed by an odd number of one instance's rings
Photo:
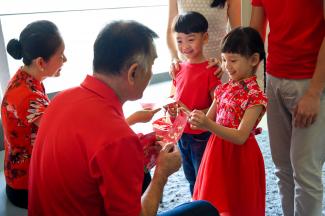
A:
{"type": "Polygon", "coordinates": [[[262,105],[256,105],[248,108],[245,111],[243,119],[237,129],[219,125],[210,118],[207,118],[204,114],[202,115],[202,112],[198,110],[194,110],[191,113],[190,123],[197,128],[206,129],[229,142],[242,145],[249,137],[249,134],[253,130],[254,125],[263,109],[264,107],[262,105]]]}

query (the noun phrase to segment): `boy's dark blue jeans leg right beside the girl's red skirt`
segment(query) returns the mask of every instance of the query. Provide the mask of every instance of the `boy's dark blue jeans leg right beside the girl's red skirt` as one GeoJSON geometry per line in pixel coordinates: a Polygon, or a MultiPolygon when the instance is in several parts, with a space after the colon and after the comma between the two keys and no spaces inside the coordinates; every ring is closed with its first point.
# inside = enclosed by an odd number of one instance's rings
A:
{"type": "Polygon", "coordinates": [[[193,142],[191,143],[191,157],[193,162],[193,167],[195,170],[195,176],[199,171],[201,160],[204,154],[205,147],[209,140],[211,133],[204,132],[201,134],[193,134],[193,142]]]}

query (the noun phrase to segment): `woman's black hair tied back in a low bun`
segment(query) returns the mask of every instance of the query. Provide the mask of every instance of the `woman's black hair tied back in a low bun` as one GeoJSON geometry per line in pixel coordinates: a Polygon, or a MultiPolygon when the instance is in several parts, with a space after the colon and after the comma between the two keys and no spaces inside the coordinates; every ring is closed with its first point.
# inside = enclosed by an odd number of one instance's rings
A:
{"type": "Polygon", "coordinates": [[[7,52],[14,59],[23,59],[30,65],[38,57],[48,61],[63,43],[56,25],[47,20],[28,24],[20,33],[19,40],[11,39],[7,44],[7,52]]]}

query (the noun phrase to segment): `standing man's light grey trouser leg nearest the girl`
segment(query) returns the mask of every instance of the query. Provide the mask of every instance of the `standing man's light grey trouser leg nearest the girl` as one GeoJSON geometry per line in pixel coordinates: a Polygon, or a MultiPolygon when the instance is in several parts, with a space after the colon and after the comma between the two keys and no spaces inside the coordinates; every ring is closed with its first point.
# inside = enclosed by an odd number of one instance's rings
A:
{"type": "Polygon", "coordinates": [[[290,95],[290,85],[283,79],[268,76],[267,79],[267,123],[270,138],[272,159],[284,216],[292,216],[294,212],[294,180],[290,161],[292,116],[291,109],[295,97],[290,95]]]}

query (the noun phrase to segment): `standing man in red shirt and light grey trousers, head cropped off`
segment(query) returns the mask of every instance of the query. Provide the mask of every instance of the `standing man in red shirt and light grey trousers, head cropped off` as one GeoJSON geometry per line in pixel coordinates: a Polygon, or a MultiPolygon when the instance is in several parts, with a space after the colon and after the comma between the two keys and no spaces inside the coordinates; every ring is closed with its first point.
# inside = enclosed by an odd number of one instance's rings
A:
{"type": "Polygon", "coordinates": [[[252,0],[265,35],[268,127],[285,216],[322,214],[325,161],[325,0],[252,0]]]}

